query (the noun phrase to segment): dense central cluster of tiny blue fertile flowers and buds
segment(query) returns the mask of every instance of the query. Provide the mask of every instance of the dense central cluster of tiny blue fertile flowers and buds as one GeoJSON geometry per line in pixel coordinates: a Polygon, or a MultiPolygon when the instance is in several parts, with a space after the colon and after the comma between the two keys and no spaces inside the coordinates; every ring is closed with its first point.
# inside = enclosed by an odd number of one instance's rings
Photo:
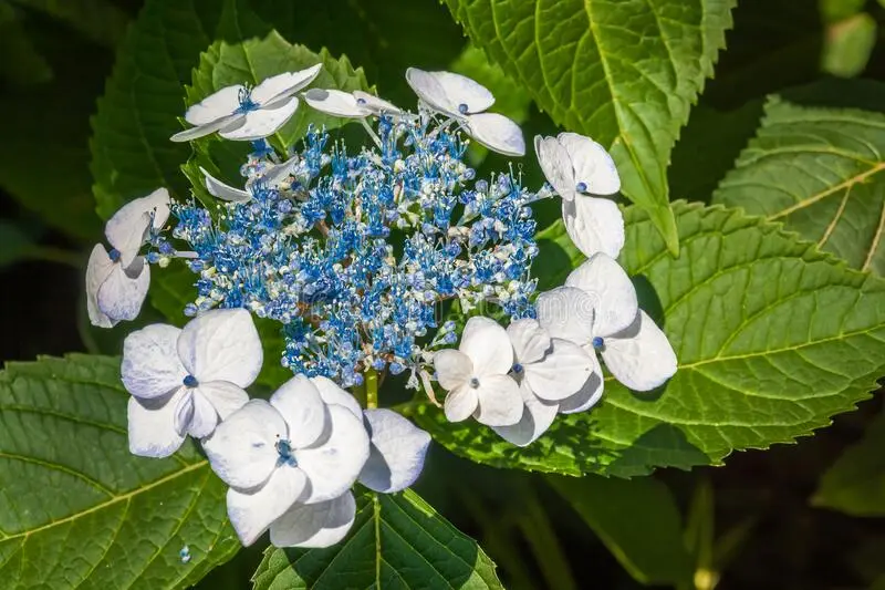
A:
{"type": "MultiPolygon", "coordinates": [[[[444,301],[532,317],[528,205],[539,196],[512,169],[475,179],[451,127],[428,113],[385,114],[377,145],[357,154],[312,128],[283,164],[267,141],[253,143],[242,199],[217,211],[173,205],[171,237],[196,252],[187,263],[199,277],[185,312],[242,307],[279,321],[282,364],[342,386],[368,366],[428,364],[434,346],[456,338],[438,329],[444,301]]],[[[176,251],[165,236],[153,242],[152,262],[176,251]]]]}

